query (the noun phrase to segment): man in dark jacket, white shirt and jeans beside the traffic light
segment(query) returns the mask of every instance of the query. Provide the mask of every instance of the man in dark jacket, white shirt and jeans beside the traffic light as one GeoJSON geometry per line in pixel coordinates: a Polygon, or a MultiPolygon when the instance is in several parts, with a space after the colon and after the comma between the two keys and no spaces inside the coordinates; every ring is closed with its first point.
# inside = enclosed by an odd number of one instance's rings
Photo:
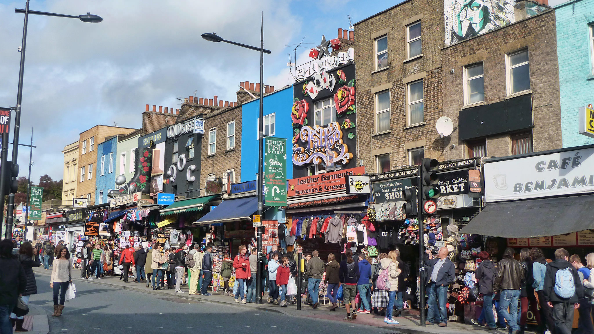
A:
{"type": "Polygon", "coordinates": [[[456,280],[454,263],[448,259],[450,253],[446,247],[441,247],[437,258],[433,258],[430,250],[427,251],[429,259],[425,260],[427,273],[426,291],[429,292],[429,311],[425,325],[432,326],[438,323],[440,327],[447,326],[447,289],[456,280]]]}

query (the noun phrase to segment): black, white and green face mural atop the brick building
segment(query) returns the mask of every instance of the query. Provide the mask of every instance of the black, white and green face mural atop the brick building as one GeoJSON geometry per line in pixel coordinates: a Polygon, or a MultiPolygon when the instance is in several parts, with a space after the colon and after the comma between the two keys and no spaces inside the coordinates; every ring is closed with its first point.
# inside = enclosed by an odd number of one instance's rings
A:
{"type": "Polygon", "coordinates": [[[511,0],[445,0],[445,44],[487,33],[514,22],[511,0]]]}

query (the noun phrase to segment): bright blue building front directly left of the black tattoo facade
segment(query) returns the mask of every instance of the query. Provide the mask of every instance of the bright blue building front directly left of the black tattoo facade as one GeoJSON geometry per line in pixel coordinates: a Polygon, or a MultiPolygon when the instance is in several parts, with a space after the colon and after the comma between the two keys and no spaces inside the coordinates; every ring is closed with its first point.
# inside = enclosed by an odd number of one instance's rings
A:
{"type": "MultiPolygon", "coordinates": [[[[290,158],[293,128],[291,107],[293,87],[285,87],[264,95],[264,134],[287,139],[287,179],[293,178],[290,158]]],[[[258,174],[258,115],[260,99],[249,101],[241,108],[241,182],[256,179],[258,174]]]]}

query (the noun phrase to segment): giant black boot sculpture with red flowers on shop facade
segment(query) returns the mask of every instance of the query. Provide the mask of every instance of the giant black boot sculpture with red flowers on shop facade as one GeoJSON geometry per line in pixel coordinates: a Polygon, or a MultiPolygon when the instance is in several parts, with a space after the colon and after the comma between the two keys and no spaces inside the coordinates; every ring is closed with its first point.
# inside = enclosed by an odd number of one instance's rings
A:
{"type": "Polygon", "coordinates": [[[126,177],[120,175],[115,178],[115,189],[108,193],[108,197],[116,198],[132,193],[150,193],[151,170],[153,168],[153,148],[144,147],[134,150],[134,176],[129,182],[126,177]]]}

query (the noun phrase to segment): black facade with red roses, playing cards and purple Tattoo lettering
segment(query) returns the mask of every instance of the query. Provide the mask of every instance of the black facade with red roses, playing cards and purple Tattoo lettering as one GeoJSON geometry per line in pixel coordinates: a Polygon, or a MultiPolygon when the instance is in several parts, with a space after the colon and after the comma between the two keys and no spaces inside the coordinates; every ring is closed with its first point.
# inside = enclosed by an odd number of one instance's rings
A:
{"type": "Polygon", "coordinates": [[[293,177],[311,165],[356,167],[355,65],[296,83],[293,97],[293,177]]]}

